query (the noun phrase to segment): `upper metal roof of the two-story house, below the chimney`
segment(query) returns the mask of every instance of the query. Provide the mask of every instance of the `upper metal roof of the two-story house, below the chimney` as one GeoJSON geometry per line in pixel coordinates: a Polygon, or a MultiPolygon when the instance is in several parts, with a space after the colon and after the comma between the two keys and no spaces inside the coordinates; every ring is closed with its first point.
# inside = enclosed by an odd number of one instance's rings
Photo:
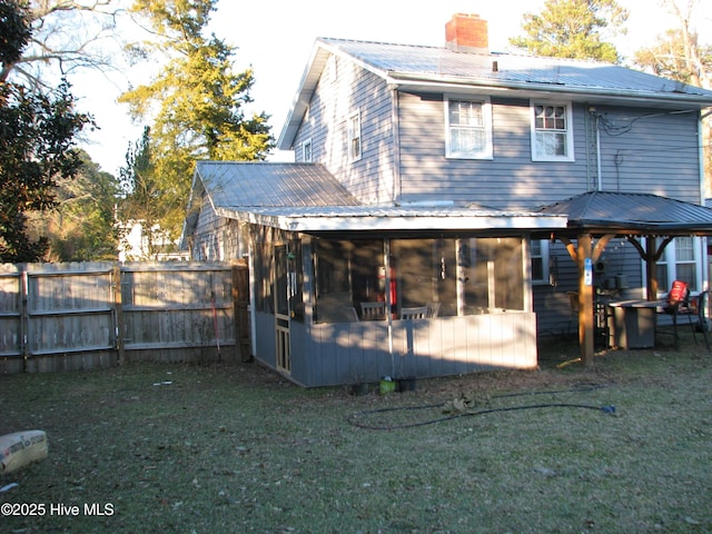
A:
{"type": "Polygon", "coordinates": [[[319,38],[279,137],[279,148],[293,148],[294,137],[330,55],[349,58],[403,90],[473,91],[523,98],[554,93],[586,103],[674,109],[712,106],[712,91],[612,63],[319,38]]]}

